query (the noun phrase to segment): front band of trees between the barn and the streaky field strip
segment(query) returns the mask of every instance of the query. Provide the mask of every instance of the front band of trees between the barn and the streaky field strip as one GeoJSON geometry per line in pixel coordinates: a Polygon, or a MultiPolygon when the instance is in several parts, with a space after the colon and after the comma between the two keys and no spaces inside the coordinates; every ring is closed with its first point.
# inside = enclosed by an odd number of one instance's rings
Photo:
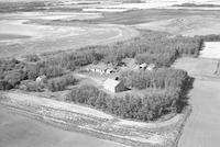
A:
{"type": "Polygon", "coordinates": [[[177,112],[179,108],[177,102],[182,99],[175,89],[145,94],[143,98],[132,94],[111,98],[94,86],[74,88],[67,98],[76,103],[87,104],[122,118],[141,121],[152,121],[163,114],[177,112]]]}

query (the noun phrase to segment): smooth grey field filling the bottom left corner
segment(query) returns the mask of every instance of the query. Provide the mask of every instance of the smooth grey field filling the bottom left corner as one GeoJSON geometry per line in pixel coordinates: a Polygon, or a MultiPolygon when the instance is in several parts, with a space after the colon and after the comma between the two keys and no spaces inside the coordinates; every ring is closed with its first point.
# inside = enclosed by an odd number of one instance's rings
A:
{"type": "Polygon", "coordinates": [[[125,147],[88,135],[63,131],[0,108],[0,147],[125,147]]]}

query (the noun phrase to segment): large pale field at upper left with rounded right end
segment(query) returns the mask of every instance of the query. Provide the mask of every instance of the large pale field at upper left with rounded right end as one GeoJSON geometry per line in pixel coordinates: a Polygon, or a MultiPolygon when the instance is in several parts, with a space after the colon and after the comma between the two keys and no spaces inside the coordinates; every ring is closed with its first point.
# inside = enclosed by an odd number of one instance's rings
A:
{"type": "Polygon", "coordinates": [[[0,19],[0,57],[74,50],[87,45],[105,45],[129,39],[139,34],[138,31],[129,26],[113,24],[70,24],[62,26],[28,23],[30,20],[50,19],[52,21],[66,15],[70,15],[73,20],[78,20],[78,18],[88,20],[88,18],[99,16],[99,14],[94,13],[66,14],[55,12],[53,14],[24,12],[2,15],[0,19]],[[36,19],[34,19],[35,16],[36,19]]]}

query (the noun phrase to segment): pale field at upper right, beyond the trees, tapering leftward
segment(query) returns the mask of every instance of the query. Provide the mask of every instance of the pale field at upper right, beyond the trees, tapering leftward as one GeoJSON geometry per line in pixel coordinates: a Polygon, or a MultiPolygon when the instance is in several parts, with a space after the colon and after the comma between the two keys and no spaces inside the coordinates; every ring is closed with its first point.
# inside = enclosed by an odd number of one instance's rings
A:
{"type": "MultiPolygon", "coordinates": [[[[209,13],[209,12],[207,12],[209,13]]],[[[146,29],[154,31],[168,32],[176,35],[194,36],[220,34],[219,15],[199,15],[182,16],[177,19],[168,19],[142,23],[135,25],[138,29],[146,29]]]]}

